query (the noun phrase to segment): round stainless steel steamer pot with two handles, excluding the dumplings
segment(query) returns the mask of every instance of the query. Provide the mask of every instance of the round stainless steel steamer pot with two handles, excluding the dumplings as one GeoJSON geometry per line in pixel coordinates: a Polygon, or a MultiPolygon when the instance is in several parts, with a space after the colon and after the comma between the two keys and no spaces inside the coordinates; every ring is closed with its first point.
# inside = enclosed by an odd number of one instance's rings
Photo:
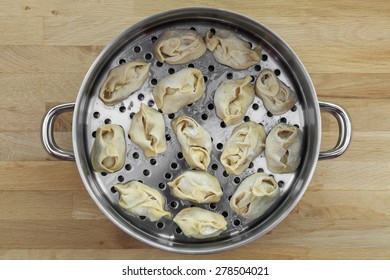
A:
{"type": "Polygon", "coordinates": [[[186,8],[164,12],[147,18],[130,27],[108,45],[89,69],[78,94],[76,103],[62,104],[52,108],[44,117],[42,139],[46,150],[64,160],[76,160],[85,187],[101,211],[119,228],[149,245],[180,253],[211,253],[239,247],[262,236],[279,224],[298,203],[313,176],[317,160],[337,157],[344,153],[351,141],[351,122],[347,113],[339,106],[318,102],[316,92],[308,73],[291,48],[265,26],[239,14],[210,8],[186,8]],[[168,65],[158,63],[152,52],[152,44],[167,29],[196,29],[202,36],[210,29],[230,29],[253,45],[264,47],[262,61],[245,71],[234,71],[218,64],[212,54],[188,65],[168,65]],[[150,77],[144,86],[122,103],[113,107],[105,106],[98,98],[98,91],[107,72],[112,67],[129,60],[141,58],[152,63],[150,77]],[[181,113],[194,117],[211,132],[213,150],[209,172],[216,176],[224,190],[219,203],[199,205],[221,213],[228,221],[228,230],[219,237],[195,240],[185,237],[180,228],[170,220],[150,222],[143,217],[132,217],[118,206],[118,194],[112,186],[118,182],[142,180],[159,189],[167,198],[169,210],[173,215],[190,203],[180,201],[171,195],[166,183],[187,169],[180,147],[170,128],[172,115],[164,115],[167,127],[168,150],[152,160],[143,156],[142,151],[127,141],[127,160],[125,167],[114,174],[98,173],[92,170],[89,155],[94,142],[94,133],[103,123],[120,124],[128,131],[131,117],[138,111],[141,102],[154,105],[152,89],[159,79],[183,67],[197,67],[205,76],[206,93],[202,99],[181,113]],[[228,205],[230,196],[242,179],[255,172],[266,172],[264,155],[250,165],[241,176],[228,175],[219,162],[221,145],[232,131],[224,126],[216,116],[213,94],[217,86],[229,78],[245,75],[257,77],[260,69],[270,68],[279,75],[299,97],[294,108],[282,116],[272,116],[256,97],[247,114],[264,125],[268,132],[278,122],[299,126],[304,134],[304,149],[299,168],[292,174],[272,174],[281,190],[281,198],[263,217],[247,222],[240,219],[228,205]],[[330,112],[338,121],[339,138],[334,149],[320,152],[321,117],[320,110],[330,112]],[[64,111],[73,112],[72,140],[74,152],[59,148],[53,138],[55,118],[64,111]],[[145,171],[147,170],[147,172],[145,171]]]}

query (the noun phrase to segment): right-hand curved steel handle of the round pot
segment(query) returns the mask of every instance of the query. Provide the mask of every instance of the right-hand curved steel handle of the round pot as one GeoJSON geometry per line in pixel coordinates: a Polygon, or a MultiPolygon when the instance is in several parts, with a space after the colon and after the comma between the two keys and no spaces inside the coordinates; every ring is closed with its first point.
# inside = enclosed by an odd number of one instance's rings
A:
{"type": "Polygon", "coordinates": [[[319,102],[320,109],[332,114],[339,125],[339,138],[333,149],[320,152],[319,159],[331,159],[341,156],[348,148],[352,138],[352,124],[347,112],[340,106],[328,103],[319,102]]]}

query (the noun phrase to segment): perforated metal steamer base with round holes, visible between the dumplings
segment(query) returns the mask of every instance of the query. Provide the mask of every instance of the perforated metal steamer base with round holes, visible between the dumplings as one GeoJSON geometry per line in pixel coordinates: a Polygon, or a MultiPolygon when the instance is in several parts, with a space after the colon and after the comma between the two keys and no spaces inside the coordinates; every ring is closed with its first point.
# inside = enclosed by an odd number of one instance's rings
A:
{"type": "MultiPolygon", "coordinates": [[[[192,24],[183,24],[179,22],[163,25],[161,28],[154,29],[151,33],[143,34],[142,36],[138,36],[135,40],[131,40],[131,42],[128,42],[120,52],[111,57],[110,62],[99,74],[98,82],[95,82],[91,89],[84,130],[86,149],[87,153],[90,154],[95,140],[96,129],[102,124],[113,123],[121,125],[127,135],[132,117],[138,112],[141,103],[158,109],[152,96],[153,88],[157,82],[163,77],[171,75],[185,67],[195,67],[201,70],[206,85],[205,93],[200,100],[186,106],[176,114],[163,114],[166,125],[165,137],[168,141],[168,149],[156,157],[146,158],[142,149],[133,144],[127,137],[127,157],[124,167],[120,171],[112,174],[93,172],[92,176],[96,182],[96,186],[99,188],[99,192],[102,193],[104,199],[106,199],[125,220],[125,223],[139,229],[146,235],[154,236],[157,239],[164,240],[164,242],[179,242],[181,244],[226,240],[232,236],[239,235],[243,231],[250,230],[253,225],[259,223],[259,220],[267,217],[266,213],[260,219],[248,223],[230,209],[230,197],[243,179],[256,172],[271,174],[276,182],[278,182],[281,190],[280,200],[283,200],[284,195],[288,193],[291,183],[295,178],[295,174],[272,174],[269,172],[264,152],[262,152],[262,154],[256,158],[250,164],[249,168],[240,176],[228,175],[220,162],[223,145],[226,143],[233,128],[236,126],[227,126],[215,113],[214,93],[223,81],[243,78],[249,75],[252,76],[252,84],[254,84],[260,71],[264,68],[268,68],[274,71],[278,78],[286,85],[296,91],[298,97],[302,94],[300,88],[295,86],[296,83],[294,83],[293,77],[289,76],[289,70],[286,68],[287,66],[284,60],[281,60],[278,54],[275,53],[265,41],[254,38],[249,34],[242,33],[240,30],[234,29],[229,25],[205,21],[194,21],[192,24]],[[247,70],[239,71],[219,64],[215,61],[212,53],[206,51],[201,58],[191,61],[188,64],[170,65],[167,63],[160,63],[155,58],[152,51],[153,43],[163,31],[170,29],[193,29],[202,37],[209,30],[212,32],[219,29],[233,30],[242,39],[251,42],[253,46],[262,45],[262,60],[247,70]],[[149,77],[142,88],[119,104],[112,107],[104,105],[98,98],[98,93],[108,71],[119,64],[135,59],[143,59],[151,63],[149,77]],[[167,185],[167,182],[172,181],[183,171],[190,169],[183,158],[180,145],[171,128],[171,120],[181,114],[194,118],[212,137],[213,148],[211,162],[207,172],[218,178],[223,189],[223,196],[218,203],[196,205],[188,201],[182,201],[171,194],[170,187],[167,185]],[[131,180],[139,180],[159,190],[165,196],[167,200],[167,210],[169,210],[173,216],[185,207],[201,207],[222,214],[228,222],[228,229],[218,237],[196,240],[184,236],[181,229],[172,220],[163,218],[156,222],[150,222],[142,216],[131,216],[118,206],[119,194],[113,188],[117,183],[126,183],[131,180]]],[[[256,96],[244,119],[244,121],[249,120],[263,125],[267,133],[277,123],[285,122],[298,126],[305,134],[305,122],[303,120],[300,101],[298,101],[289,112],[281,116],[273,116],[270,112],[267,112],[262,101],[256,96]]],[[[92,167],[89,168],[92,170],[92,167]]],[[[277,204],[278,203],[275,203],[275,206],[277,206],[277,204]]],[[[272,209],[270,211],[272,211],[272,209]]]]}

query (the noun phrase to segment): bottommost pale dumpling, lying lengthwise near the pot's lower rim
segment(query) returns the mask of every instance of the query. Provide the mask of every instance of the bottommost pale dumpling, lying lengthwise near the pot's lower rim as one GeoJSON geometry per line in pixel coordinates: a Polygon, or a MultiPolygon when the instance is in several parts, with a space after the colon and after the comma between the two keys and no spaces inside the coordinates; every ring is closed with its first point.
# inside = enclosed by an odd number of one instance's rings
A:
{"type": "Polygon", "coordinates": [[[173,221],[184,235],[198,239],[218,236],[227,229],[227,222],[221,214],[199,207],[181,210],[173,221]]]}

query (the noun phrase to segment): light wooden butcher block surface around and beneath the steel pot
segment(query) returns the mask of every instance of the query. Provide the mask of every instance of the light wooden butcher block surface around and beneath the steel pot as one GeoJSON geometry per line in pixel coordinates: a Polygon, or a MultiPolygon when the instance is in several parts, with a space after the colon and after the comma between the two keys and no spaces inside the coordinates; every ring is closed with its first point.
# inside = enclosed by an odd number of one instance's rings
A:
{"type": "MultiPolygon", "coordinates": [[[[74,102],[94,59],[156,13],[224,8],[269,27],[297,53],[318,99],[344,107],[353,139],[319,161],[293,211],[256,241],[198,259],[390,258],[390,3],[345,1],[0,1],[0,259],[193,259],[137,241],[88,195],[75,162],[43,149],[43,115],[74,102]]],[[[322,150],[337,122],[322,113],[322,150]]],[[[55,124],[71,149],[72,114],[55,124]]]]}

